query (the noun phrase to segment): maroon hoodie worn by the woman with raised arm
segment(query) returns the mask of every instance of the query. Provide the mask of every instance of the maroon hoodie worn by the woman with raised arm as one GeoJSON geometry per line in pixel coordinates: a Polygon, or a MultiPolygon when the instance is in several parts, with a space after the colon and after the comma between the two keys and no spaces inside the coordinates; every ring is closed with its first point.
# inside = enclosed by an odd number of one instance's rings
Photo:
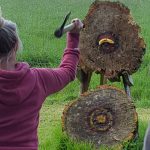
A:
{"type": "Polygon", "coordinates": [[[37,150],[39,111],[46,97],[74,80],[79,35],[68,34],[59,68],[30,68],[17,63],[0,70],[0,150],[37,150]]]}

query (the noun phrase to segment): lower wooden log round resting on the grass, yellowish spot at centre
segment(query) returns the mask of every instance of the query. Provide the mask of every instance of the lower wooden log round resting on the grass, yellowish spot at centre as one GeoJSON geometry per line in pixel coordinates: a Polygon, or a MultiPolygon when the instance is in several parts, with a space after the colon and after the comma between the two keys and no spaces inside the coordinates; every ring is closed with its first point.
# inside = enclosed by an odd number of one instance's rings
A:
{"type": "Polygon", "coordinates": [[[131,99],[115,87],[100,86],[68,104],[62,116],[63,130],[77,141],[117,146],[137,132],[137,113],[131,99]]]}

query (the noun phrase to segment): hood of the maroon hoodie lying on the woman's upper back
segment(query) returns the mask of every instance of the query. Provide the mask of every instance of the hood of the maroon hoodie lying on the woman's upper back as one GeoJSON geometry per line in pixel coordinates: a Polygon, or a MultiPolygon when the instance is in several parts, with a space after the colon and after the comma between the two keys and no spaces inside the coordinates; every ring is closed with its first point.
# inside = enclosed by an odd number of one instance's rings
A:
{"type": "Polygon", "coordinates": [[[0,103],[4,105],[22,103],[35,86],[35,79],[31,74],[27,63],[17,63],[14,71],[0,70],[0,103]]]}

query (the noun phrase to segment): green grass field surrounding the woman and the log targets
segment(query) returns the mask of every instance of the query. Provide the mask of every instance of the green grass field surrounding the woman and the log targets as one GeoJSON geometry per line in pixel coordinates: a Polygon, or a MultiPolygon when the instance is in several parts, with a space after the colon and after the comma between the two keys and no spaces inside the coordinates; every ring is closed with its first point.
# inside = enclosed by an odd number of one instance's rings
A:
{"type": "MultiPolygon", "coordinates": [[[[23,43],[23,51],[18,53],[19,61],[27,61],[33,67],[57,67],[60,63],[66,37],[56,39],[54,30],[64,16],[71,11],[73,18],[84,19],[93,0],[0,0],[3,16],[17,23],[23,43]]],[[[120,0],[130,9],[135,21],[141,26],[141,34],[147,44],[147,51],[141,68],[133,75],[132,99],[139,114],[139,139],[127,150],[141,150],[147,123],[150,120],[150,9],[149,0],[120,0]]],[[[90,89],[99,83],[94,75],[90,89]]],[[[111,84],[111,83],[110,83],[111,84]]],[[[113,85],[123,88],[121,83],[113,85]]],[[[61,131],[61,114],[64,105],[79,95],[76,80],[61,92],[47,98],[41,110],[39,127],[39,150],[91,150],[90,145],[77,144],[69,140],[61,131]]]]}

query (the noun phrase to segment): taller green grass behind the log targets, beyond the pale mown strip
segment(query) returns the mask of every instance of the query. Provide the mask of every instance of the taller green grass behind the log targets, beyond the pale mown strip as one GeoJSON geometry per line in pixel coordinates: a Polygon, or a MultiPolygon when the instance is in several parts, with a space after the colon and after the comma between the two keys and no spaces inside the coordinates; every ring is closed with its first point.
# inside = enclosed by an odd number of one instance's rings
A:
{"type": "MultiPolygon", "coordinates": [[[[89,5],[94,0],[0,0],[3,14],[6,18],[17,23],[24,50],[18,54],[19,61],[27,61],[34,67],[57,67],[60,63],[66,37],[54,38],[53,32],[62,23],[64,15],[72,12],[70,20],[78,17],[83,19],[89,5]]],[[[141,34],[147,44],[147,52],[143,64],[133,75],[134,87],[132,96],[138,107],[149,107],[150,97],[150,9],[147,0],[120,0],[130,9],[134,20],[141,26],[141,34]]],[[[69,20],[69,22],[70,22],[69,20]]],[[[68,23],[69,23],[68,22],[68,23]]],[[[90,88],[99,84],[99,76],[95,75],[90,88]]],[[[79,83],[69,85],[67,90],[56,94],[52,99],[71,100],[78,95],[79,83]],[[72,92],[74,93],[72,96],[72,92]],[[67,94],[66,94],[67,93],[67,94]],[[63,97],[63,98],[61,98],[63,97]]],[[[119,84],[115,84],[120,86],[119,84]]],[[[49,98],[50,99],[50,98],[49,98]]]]}

